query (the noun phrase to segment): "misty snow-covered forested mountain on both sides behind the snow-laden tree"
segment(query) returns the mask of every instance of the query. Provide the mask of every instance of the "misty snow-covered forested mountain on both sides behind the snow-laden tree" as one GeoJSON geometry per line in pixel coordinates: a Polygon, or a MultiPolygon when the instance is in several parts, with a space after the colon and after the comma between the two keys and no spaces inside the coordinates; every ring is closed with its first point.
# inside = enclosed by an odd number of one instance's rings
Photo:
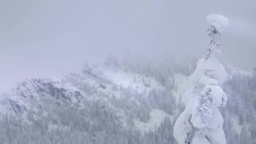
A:
{"type": "MultiPolygon", "coordinates": [[[[173,125],[187,105],[192,90],[188,76],[194,69],[193,62],[174,58],[121,63],[111,56],[64,77],[24,80],[0,94],[0,141],[175,144],[173,125]]],[[[256,77],[243,69],[225,69],[229,101],[221,113],[227,143],[253,144],[256,77]]]]}

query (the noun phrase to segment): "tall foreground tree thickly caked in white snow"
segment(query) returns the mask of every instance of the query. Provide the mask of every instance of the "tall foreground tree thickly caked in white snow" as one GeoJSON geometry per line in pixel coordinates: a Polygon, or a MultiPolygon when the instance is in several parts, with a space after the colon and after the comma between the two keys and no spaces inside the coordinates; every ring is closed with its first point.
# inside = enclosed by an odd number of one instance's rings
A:
{"type": "Polygon", "coordinates": [[[226,144],[222,130],[224,120],[218,107],[225,106],[227,102],[227,95],[220,87],[227,73],[214,53],[220,52],[218,41],[229,22],[217,14],[207,16],[207,21],[210,26],[206,33],[211,42],[206,56],[197,62],[195,72],[189,77],[195,87],[190,93],[189,104],[173,128],[173,136],[179,144],[226,144]]]}

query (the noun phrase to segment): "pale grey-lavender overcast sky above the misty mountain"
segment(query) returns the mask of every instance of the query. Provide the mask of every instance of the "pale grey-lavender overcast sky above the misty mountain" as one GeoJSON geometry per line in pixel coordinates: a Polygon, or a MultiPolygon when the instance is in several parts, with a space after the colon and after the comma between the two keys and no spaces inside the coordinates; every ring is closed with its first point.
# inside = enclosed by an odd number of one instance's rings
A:
{"type": "Polygon", "coordinates": [[[221,60],[256,65],[256,0],[0,0],[0,91],[119,57],[202,53],[205,17],[229,19],[221,60]]]}

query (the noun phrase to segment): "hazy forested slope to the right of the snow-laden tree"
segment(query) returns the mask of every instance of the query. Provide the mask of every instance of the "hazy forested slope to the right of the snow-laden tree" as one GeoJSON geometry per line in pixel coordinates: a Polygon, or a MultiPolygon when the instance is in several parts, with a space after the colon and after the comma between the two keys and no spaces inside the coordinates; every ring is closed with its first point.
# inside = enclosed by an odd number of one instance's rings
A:
{"type": "Polygon", "coordinates": [[[227,144],[256,144],[256,75],[232,75],[224,91],[228,96],[222,111],[227,144]]]}

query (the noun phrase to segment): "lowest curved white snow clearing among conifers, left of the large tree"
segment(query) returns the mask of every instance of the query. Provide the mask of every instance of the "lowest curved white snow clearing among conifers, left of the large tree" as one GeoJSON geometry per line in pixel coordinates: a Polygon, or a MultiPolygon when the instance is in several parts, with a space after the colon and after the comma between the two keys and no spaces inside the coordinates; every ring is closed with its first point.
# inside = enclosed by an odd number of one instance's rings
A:
{"type": "Polygon", "coordinates": [[[173,115],[169,115],[166,112],[159,110],[159,109],[152,109],[150,112],[150,119],[147,123],[141,122],[138,119],[134,119],[134,126],[141,130],[141,132],[144,131],[154,131],[155,126],[160,125],[160,123],[164,120],[165,117],[170,117],[171,121],[173,121],[173,115]]]}

